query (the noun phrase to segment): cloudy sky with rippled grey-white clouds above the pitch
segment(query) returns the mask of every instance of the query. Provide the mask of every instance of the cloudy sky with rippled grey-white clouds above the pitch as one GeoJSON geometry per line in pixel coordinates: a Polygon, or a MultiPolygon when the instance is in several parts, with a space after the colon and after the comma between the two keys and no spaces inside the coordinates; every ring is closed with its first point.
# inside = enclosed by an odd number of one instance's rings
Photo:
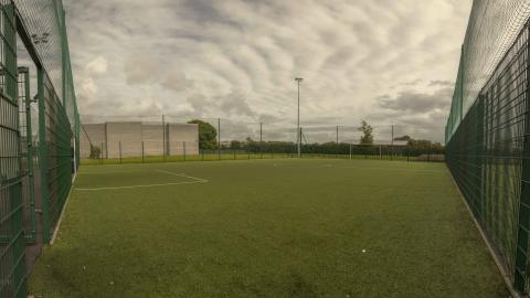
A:
{"type": "Polygon", "coordinates": [[[83,115],[290,129],[301,76],[308,131],[365,119],[375,139],[395,124],[443,140],[471,0],[64,4],[83,115]]]}

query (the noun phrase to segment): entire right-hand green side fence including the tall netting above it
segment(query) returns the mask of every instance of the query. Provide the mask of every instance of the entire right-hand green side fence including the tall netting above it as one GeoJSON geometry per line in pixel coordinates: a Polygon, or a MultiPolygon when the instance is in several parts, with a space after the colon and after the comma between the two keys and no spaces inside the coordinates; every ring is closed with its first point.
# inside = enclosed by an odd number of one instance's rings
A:
{"type": "Polygon", "coordinates": [[[530,278],[529,14],[474,2],[446,128],[447,166],[515,295],[530,278]]]}

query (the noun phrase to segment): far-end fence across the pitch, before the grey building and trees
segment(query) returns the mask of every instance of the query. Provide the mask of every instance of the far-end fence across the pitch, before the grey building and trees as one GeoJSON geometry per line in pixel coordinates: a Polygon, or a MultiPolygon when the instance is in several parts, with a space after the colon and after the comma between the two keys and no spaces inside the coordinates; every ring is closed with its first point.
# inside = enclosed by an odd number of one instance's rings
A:
{"type": "MultiPolygon", "coordinates": [[[[442,127],[374,126],[371,143],[357,126],[305,126],[182,118],[82,115],[82,164],[298,157],[443,161],[432,138],[442,127]],[[191,121],[191,123],[190,123],[191,121]]],[[[442,137],[439,134],[438,138],[442,137]]],[[[436,136],[434,136],[436,139],[436,136]]]]}

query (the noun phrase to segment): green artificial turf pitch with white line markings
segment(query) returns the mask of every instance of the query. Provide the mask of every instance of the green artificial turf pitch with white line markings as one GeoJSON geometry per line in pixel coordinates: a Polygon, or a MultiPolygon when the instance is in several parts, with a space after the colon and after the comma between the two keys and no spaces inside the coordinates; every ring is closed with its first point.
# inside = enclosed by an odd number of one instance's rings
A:
{"type": "Polygon", "coordinates": [[[82,167],[42,297],[507,297],[443,163],[82,167]]]}

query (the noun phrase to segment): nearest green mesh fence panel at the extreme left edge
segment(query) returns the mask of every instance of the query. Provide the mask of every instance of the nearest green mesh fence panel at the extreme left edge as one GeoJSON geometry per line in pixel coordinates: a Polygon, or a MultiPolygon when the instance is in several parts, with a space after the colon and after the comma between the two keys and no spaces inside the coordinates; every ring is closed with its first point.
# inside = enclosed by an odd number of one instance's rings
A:
{"type": "Polygon", "coordinates": [[[0,2],[0,297],[25,297],[15,8],[0,2]]]}

